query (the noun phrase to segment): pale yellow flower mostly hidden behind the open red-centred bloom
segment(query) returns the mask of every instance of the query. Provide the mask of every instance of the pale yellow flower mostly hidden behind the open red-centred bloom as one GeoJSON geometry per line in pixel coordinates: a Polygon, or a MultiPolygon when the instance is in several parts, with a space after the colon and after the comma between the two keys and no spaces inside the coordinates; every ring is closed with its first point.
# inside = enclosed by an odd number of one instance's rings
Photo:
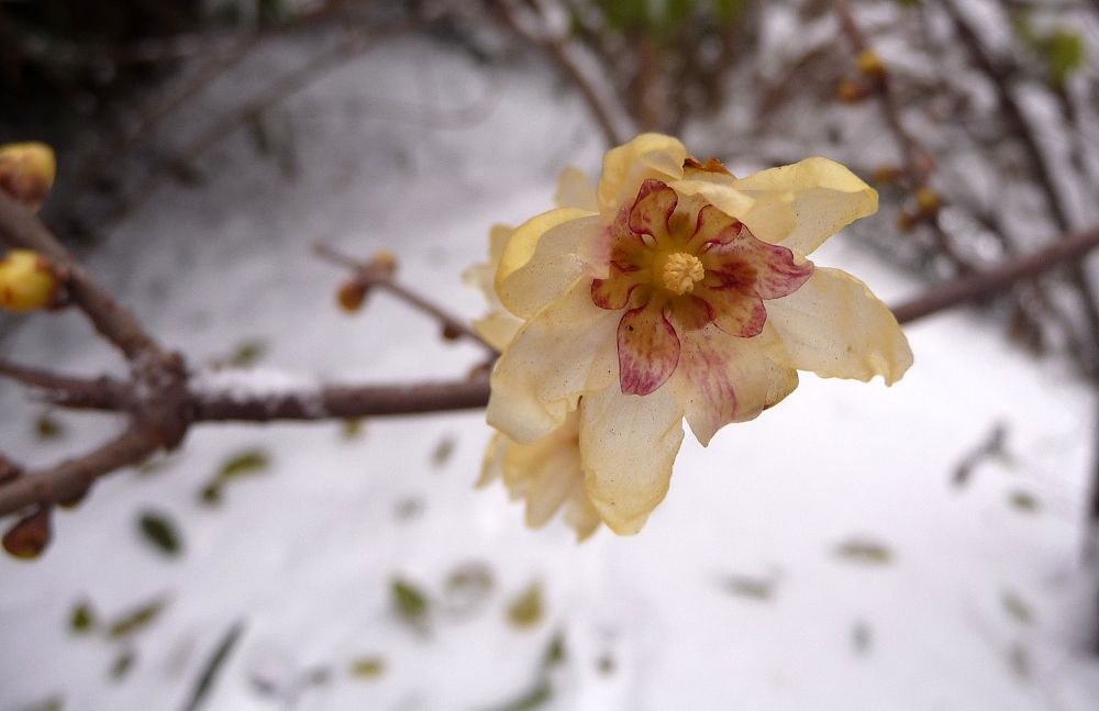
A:
{"type": "MultiPolygon", "coordinates": [[[[593,204],[586,201],[586,196],[593,190],[586,180],[578,170],[566,170],[558,186],[556,204],[581,208],[593,204]]],[[[485,295],[488,313],[474,321],[474,327],[497,351],[506,348],[523,324],[503,308],[493,288],[500,258],[513,232],[514,229],[508,225],[493,225],[489,233],[489,260],[475,264],[463,275],[469,286],[485,295]]],[[[568,413],[559,426],[528,444],[517,443],[502,433],[493,435],[477,486],[501,480],[512,499],[525,501],[526,525],[532,529],[544,526],[564,509],[565,522],[576,531],[577,538],[584,541],[600,523],[585,479],[577,409],[568,413]]]]}

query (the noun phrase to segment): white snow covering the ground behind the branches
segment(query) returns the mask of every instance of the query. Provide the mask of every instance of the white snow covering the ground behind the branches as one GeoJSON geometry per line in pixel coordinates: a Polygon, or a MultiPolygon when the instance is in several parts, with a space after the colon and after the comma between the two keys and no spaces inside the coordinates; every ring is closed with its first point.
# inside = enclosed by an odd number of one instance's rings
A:
{"type": "MultiPolygon", "coordinates": [[[[257,57],[208,101],[297,51],[257,57]]],[[[256,367],[273,381],[465,373],[473,347],[442,343],[384,295],[337,312],[343,275],[311,243],[395,249],[403,279],[474,316],[480,298],[459,273],[482,258],[489,225],[544,209],[560,168],[600,157],[550,77],[488,75],[412,42],[317,84],[270,126],[293,136],[292,181],[286,154],[256,160],[234,136],[200,162],[201,187],[162,190],[90,267],[193,364],[263,344],[256,367]]],[[[843,236],[817,260],[887,300],[919,288],[843,236]]],[[[579,546],[560,523],[525,530],[501,489],[473,489],[489,437],[479,412],[376,420],[357,436],[333,423],[198,429],[162,466],[59,512],[44,559],[0,558],[0,709],[184,708],[237,623],[206,709],[1094,709],[1095,575],[1079,564],[1094,403],[1062,364],[1011,349],[972,313],[908,333],[917,363],[899,385],[803,377],[708,449],[685,443],[639,536],[579,546]],[[996,423],[1007,454],[952,485],[996,423]],[[242,452],[269,466],[204,503],[242,452]],[[140,535],[148,512],[178,527],[179,555],[140,535]],[[395,607],[395,579],[425,612],[408,595],[395,607]],[[532,585],[541,609],[509,621],[532,585]],[[152,600],[165,602],[149,624],[111,638],[104,627],[152,600]],[[84,634],[70,630],[80,602],[98,619],[84,634]]],[[[11,349],[75,373],[119,368],[75,314],[35,318],[11,349]]],[[[53,413],[64,432],[41,438],[40,410],[8,384],[0,411],[3,448],[32,463],[114,426],[53,413]]]]}

